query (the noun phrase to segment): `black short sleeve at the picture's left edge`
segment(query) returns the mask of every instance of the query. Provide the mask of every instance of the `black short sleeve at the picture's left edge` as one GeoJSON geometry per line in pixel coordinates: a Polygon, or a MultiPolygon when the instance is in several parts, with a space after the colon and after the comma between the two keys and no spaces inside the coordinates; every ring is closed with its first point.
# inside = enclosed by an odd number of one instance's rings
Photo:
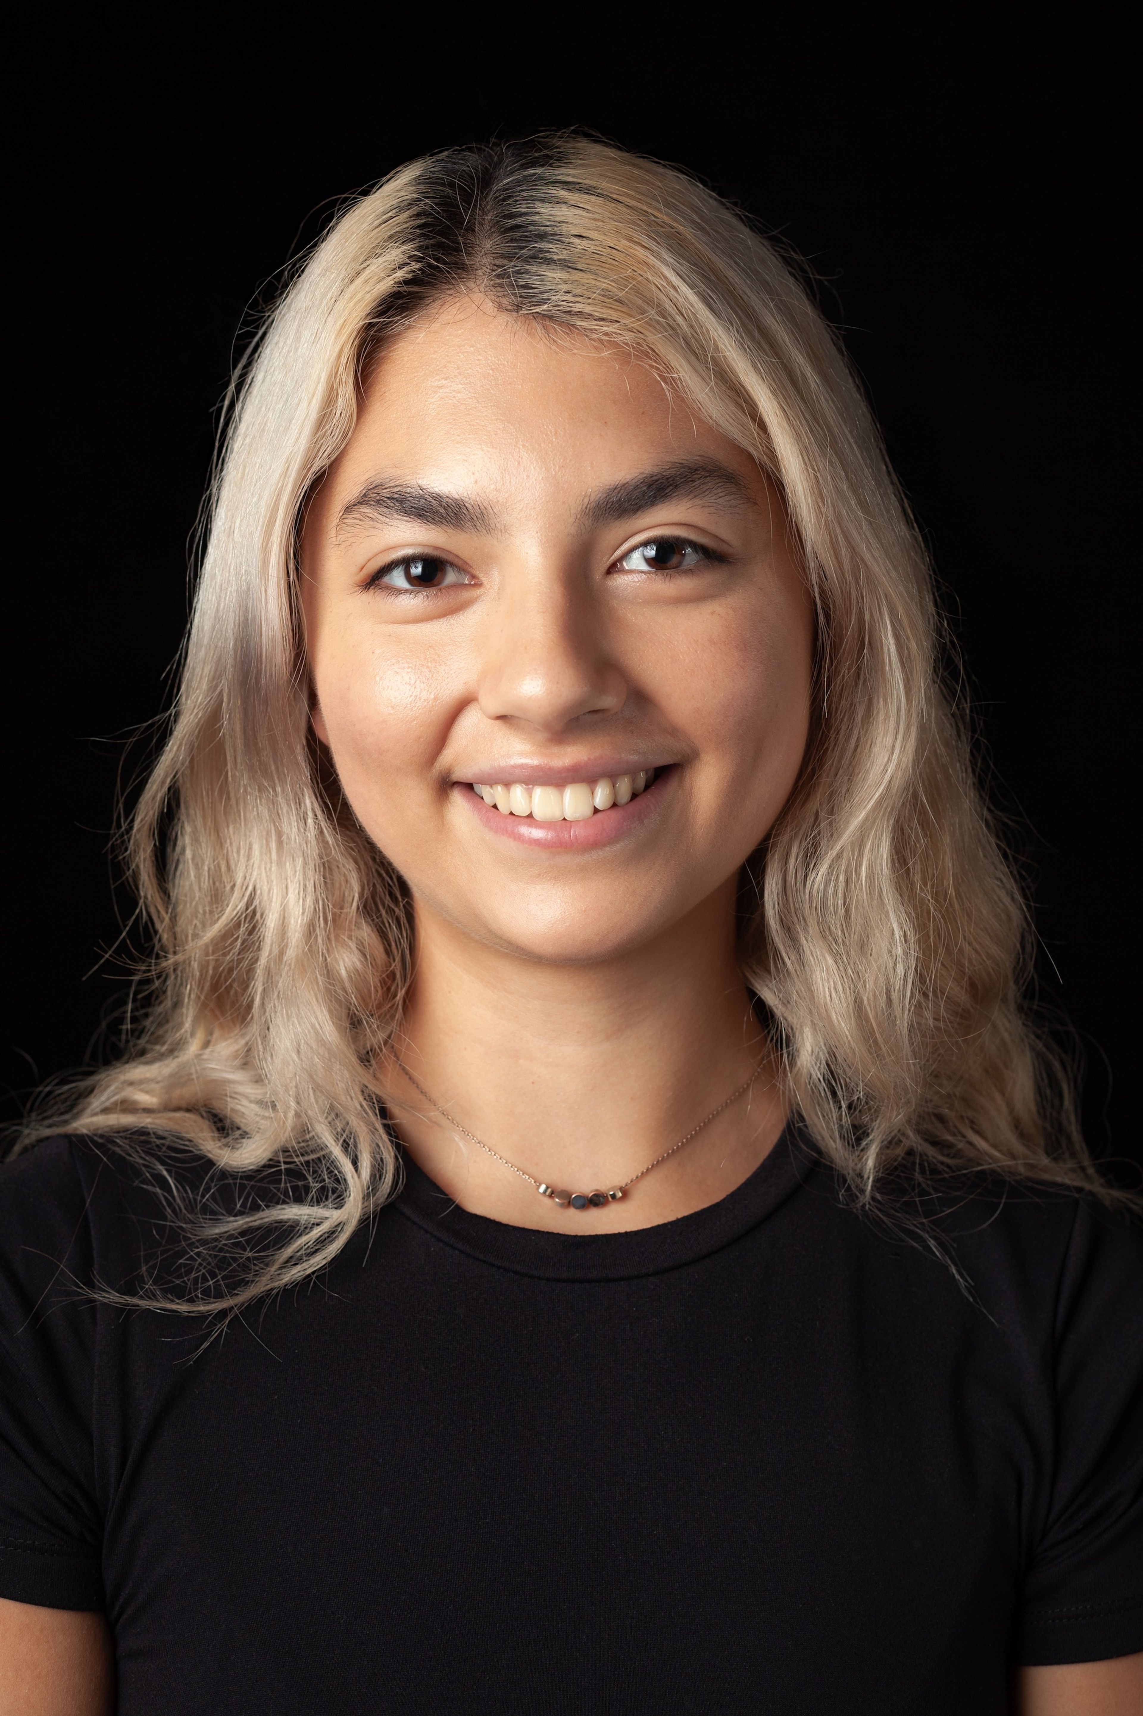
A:
{"type": "Polygon", "coordinates": [[[53,1139],[0,1170],[0,1596],[100,1610],[84,1186],[53,1139]]]}

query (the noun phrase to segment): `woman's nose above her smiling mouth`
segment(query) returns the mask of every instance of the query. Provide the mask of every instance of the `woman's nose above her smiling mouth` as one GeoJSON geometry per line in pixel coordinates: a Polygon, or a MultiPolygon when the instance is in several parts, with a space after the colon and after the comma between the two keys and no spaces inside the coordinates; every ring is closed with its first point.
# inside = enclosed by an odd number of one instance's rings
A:
{"type": "Polygon", "coordinates": [[[479,680],[481,712],[544,734],[611,716],[628,697],[608,650],[604,616],[575,577],[534,568],[511,580],[487,616],[479,680]]]}

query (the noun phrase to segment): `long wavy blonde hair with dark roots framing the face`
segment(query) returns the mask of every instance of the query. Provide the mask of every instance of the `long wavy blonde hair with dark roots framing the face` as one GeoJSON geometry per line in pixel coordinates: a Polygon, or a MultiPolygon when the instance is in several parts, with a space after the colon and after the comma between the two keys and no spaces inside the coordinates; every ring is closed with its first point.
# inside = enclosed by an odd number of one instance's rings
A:
{"type": "Polygon", "coordinates": [[[173,726],[130,834],[153,1004],[51,1124],[161,1174],[206,1268],[170,1302],[233,1309],[311,1275],[398,1187],[379,1069],[410,906],[311,733],[297,544],[371,357],[455,292],[637,353],[781,487],[817,606],[815,716],[743,873],[741,970],[844,1186],[868,1205],[928,1163],[1097,1187],[1021,1012],[1026,911],[942,688],[925,553],[827,323],[686,173],[547,136],[412,161],[354,201],[232,388],[173,726]],[[172,1141],[276,1189],[220,1210],[182,1187],[172,1141]]]}

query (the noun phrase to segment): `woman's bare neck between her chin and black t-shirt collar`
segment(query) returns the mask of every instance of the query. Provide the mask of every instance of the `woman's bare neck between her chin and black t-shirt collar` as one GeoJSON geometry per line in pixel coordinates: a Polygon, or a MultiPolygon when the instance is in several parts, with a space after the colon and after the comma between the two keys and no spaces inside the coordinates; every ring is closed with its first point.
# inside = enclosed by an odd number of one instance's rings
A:
{"type": "Polygon", "coordinates": [[[671,1220],[745,1179],[784,1121],[735,959],[729,887],[644,947],[590,964],[522,959],[419,906],[398,1054],[469,1133],[537,1181],[584,1191],[638,1174],[759,1071],[621,1201],[575,1217],[460,1136],[393,1066],[391,1114],[414,1158],[463,1208],[517,1225],[671,1220]]]}

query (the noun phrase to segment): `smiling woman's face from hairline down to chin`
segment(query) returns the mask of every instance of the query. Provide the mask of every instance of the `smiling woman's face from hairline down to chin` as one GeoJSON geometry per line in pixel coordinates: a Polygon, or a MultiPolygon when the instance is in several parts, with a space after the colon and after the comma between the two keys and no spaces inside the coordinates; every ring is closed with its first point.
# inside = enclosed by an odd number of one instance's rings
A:
{"type": "Polygon", "coordinates": [[[774,487],[649,369],[448,300],[376,364],[302,565],[314,728],[422,930],[584,963],[733,901],[812,606],[774,487]]]}

